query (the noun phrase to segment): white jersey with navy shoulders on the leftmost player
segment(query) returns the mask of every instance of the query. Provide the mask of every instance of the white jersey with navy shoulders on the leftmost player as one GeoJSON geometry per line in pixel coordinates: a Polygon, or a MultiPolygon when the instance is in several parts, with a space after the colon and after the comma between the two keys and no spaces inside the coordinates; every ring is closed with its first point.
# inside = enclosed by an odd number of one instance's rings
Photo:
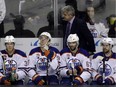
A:
{"type": "Polygon", "coordinates": [[[6,50],[2,50],[0,56],[0,76],[7,76],[7,74],[12,72],[12,69],[15,69],[15,72],[18,74],[18,80],[25,78],[26,59],[26,54],[20,50],[15,49],[12,56],[9,56],[6,50]]]}

